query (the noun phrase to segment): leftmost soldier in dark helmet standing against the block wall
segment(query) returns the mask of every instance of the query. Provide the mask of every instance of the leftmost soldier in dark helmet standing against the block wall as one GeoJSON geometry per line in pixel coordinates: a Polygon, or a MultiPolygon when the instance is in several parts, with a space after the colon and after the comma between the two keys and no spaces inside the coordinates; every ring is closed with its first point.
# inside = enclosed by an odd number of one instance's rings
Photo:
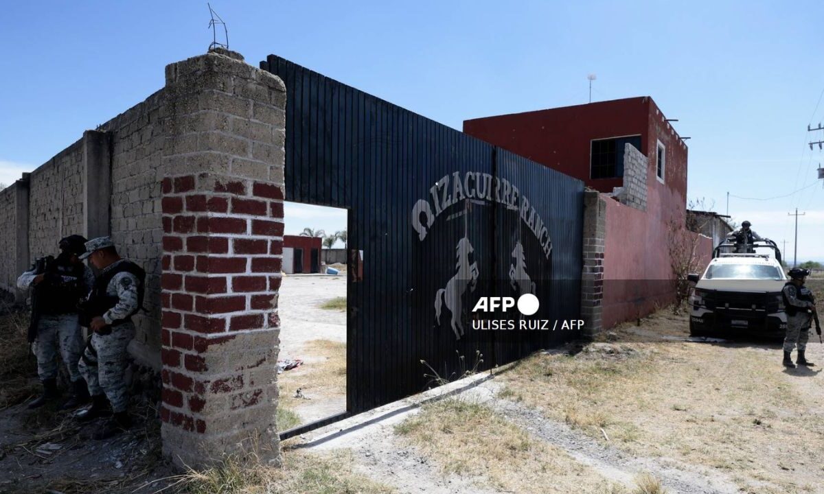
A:
{"type": "Polygon", "coordinates": [[[34,343],[37,374],[43,384],[42,394],[29,403],[29,408],[42,407],[59,398],[58,353],[68,368],[73,389],[71,398],[60,408],[75,408],[88,401],[86,382],[77,369],[83,352],[77,304],[95,281],[94,273],[79,259],[86,252],[85,242],[81,235],[60,240],[57,259],[51,256],[37,259],[17,278],[18,288],[31,288],[29,343],[34,343]]]}

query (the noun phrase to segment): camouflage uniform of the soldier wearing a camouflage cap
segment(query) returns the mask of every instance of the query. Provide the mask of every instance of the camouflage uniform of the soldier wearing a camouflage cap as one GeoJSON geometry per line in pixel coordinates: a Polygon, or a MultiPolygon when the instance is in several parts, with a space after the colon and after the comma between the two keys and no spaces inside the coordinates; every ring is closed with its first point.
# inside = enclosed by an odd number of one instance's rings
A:
{"type": "MultiPolygon", "coordinates": [[[[104,268],[100,276],[116,268],[121,259],[104,268]]],[[[134,338],[134,324],[129,316],[138,307],[138,278],[132,273],[117,273],[106,287],[106,295],[117,296],[117,305],[108,310],[103,319],[106,324],[121,319],[111,326],[111,333],[92,333],[80,361],[80,372],[89,385],[89,394],[97,396],[105,393],[113,412],[124,412],[129,404],[124,373],[126,367],[126,347],[134,338]]]]}

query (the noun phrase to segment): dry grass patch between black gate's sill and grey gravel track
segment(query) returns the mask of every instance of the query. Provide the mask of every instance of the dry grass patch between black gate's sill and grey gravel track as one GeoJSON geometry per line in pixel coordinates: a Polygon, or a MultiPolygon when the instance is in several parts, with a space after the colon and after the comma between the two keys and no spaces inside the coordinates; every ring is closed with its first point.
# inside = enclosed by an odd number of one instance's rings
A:
{"type": "Polygon", "coordinates": [[[624,492],[564,450],[479,403],[447,398],[424,405],[396,434],[438,464],[443,473],[478,479],[503,492],[624,492]]]}

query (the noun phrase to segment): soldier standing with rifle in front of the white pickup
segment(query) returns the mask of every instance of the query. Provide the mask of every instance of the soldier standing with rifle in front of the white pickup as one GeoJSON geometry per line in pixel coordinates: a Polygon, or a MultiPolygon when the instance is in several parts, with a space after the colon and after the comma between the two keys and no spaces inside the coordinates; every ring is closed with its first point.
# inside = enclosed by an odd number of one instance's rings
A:
{"type": "Polygon", "coordinates": [[[791,278],[781,295],[784,298],[784,311],[787,314],[787,334],[784,338],[784,366],[794,368],[793,359],[790,352],[794,347],[798,347],[798,358],[796,363],[799,366],[812,366],[812,362],[804,357],[809,338],[809,329],[812,326],[812,312],[816,310],[816,299],[812,296],[812,291],[804,286],[804,282],[810,272],[803,268],[792,268],[789,270],[791,278]]]}

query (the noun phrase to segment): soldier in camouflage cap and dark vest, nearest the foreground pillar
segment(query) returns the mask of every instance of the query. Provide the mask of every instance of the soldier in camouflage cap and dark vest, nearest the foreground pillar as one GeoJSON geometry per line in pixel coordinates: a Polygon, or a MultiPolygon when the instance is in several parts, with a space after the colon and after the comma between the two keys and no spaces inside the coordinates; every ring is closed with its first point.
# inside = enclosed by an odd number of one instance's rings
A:
{"type": "Polygon", "coordinates": [[[114,412],[95,439],[105,439],[131,425],[129,394],[124,373],[126,347],[134,337],[132,315],[141,309],[146,273],[137,264],[120,259],[109,237],[86,243],[88,258],[100,270],[95,286],[82,305],[82,319],[89,321],[94,332],[80,362],[80,371],[89,385],[91,408],[79,412],[77,419],[86,422],[107,412],[114,412]]]}

